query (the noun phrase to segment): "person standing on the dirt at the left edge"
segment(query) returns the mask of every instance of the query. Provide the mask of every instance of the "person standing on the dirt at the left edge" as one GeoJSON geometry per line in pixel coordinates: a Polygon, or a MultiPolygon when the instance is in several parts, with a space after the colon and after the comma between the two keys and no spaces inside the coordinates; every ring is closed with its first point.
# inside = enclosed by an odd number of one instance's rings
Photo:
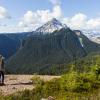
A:
{"type": "Polygon", "coordinates": [[[4,85],[4,73],[5,73],[4,57],[0,55],[0,85],[4,85]]]}

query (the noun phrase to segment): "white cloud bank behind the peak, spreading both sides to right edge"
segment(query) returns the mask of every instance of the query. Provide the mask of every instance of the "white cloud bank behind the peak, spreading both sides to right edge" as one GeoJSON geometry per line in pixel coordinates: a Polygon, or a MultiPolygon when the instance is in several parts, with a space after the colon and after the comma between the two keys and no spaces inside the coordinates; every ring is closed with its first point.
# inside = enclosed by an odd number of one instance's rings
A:
{"type": "Polygon", "coordinates": [[[36,12],[27,11],[18,26],[22,28],[29,27],[29,29],[33,27],[33,29],[36,29],[52,18],[57,18],[72,29],[100,30],[100,17],[88,18],[88,16],[83,13],[77,13],[71,17],[64,17],[60,5],[55,5],[52,11],[49,9],[37,10],[36,12]]]}

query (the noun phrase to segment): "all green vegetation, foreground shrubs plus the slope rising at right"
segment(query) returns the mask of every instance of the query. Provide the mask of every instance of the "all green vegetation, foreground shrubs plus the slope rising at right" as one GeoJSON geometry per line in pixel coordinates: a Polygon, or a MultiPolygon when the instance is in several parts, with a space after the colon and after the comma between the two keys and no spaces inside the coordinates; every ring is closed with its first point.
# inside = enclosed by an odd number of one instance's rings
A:
{"type": "Polygon", "coordinates": [[[77,61],[77,67],[75,62],[72,63],[69,72],[59,79],[44,82],[39,77],[33,77],[35,89],[2,97],[1,100],[41,100],[49,96],[55,100],[99,100],[100,56],[99,53],[92,55],[77,61]],[[83,69],[77,70],[79,65],[83,69]]]}

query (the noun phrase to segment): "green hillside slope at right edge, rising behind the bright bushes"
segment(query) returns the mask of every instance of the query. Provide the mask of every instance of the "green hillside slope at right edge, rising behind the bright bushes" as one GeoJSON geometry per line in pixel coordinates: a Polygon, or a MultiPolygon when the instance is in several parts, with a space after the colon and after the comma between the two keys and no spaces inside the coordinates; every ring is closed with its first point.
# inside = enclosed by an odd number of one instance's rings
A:
{"type": "Polygon", "coordinates": [[[90,53],[88,56],[77,60],[75,65],[75,69],[79,72],[88,72],[92,67],[100,67],[100,52],[90,53]]]}

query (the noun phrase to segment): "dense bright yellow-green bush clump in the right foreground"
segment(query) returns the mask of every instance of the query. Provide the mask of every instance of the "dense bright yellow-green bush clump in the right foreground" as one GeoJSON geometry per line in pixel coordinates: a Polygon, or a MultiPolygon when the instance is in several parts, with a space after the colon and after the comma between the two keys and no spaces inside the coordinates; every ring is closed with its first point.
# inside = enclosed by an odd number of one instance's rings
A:
{"type": "Polygon", "coordinates": [[[73,92],[87,92],[100,86],[100,81],[93,72],[77,73],[72,71],[64,75],[61,82],[63,90],[73,92]]]}

